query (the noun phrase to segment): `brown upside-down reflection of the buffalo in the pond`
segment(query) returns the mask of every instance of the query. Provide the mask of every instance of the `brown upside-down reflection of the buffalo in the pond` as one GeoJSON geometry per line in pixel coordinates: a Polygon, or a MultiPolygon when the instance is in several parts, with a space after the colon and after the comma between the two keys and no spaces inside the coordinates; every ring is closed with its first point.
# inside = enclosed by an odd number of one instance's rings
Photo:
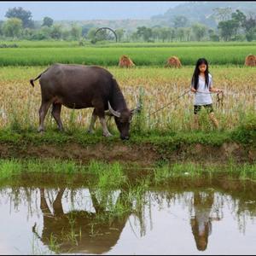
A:
{"type": "MultiPolygon", "coordinates": [[[[90,189],[89,189],[90,190],[90,189]]],[[[119,236],[125,227],[127,219],[132,213],[132,204],[129,203],[129,211],[118,217],[111,217],[106,210],[107,198],[105,201],[98,201],[95,193],[90,190],[90,197],[95,212],[73,210],[67,213],[63,212],[61,203],[62,195],[65,189],[60,189],[55,201],[53,202],[53,213],[49,210],[49,205],[44,196],[44,189],[40,189],[40,208],[44,215],[44,228],[42,236],[36,231],[36,224],[32,231],[45,245],[50,247],[52,237],[55,240],[55,247],[60,253],[106,253],[119,240],[119,236]],[[105,207],[102,207],[105,206],[105,207]],[[68,234],[75,234],[75,241],[68,234]]],[[[127,201],[120,192],[115,206],[119,204],[127,207],[127,201]]],[[[138,214],[139,215],[139,214],[138,214]]],[[[138,216],[140,224],[141,217],[138,216]]]]}

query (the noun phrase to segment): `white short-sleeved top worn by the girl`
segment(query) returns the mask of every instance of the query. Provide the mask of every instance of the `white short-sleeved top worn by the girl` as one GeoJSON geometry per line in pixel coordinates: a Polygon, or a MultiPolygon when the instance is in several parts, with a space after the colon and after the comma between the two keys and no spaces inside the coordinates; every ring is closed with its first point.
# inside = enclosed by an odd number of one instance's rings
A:
{"type": "MultiPolygon", "coordinates": [[[[198,92],[195,92],[195,101],[194,105],[208,105],[212,104],[212,96],[210,94],[210,87],[212,87],[212,75],[209,73],[209,84],[208,87],[205,85],[206,80],[205,78],[199,76],[198,77],[198,92]]],[[[191,84],[191,87],[192,84],[191,84]]]]}

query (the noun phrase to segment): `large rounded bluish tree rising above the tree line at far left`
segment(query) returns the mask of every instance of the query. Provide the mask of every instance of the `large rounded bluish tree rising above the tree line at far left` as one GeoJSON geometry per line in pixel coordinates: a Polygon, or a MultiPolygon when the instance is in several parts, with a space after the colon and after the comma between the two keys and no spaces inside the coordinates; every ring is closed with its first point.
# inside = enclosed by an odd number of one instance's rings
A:
{"type": "Polygon", "coordinates": [[[21,7],[9,9],[5,17],[7,18],[17,18],[22,20],[23,27],[33,27],[33,21],[32,21],[32,13],[31,11],[25,10],[21,7]]]}

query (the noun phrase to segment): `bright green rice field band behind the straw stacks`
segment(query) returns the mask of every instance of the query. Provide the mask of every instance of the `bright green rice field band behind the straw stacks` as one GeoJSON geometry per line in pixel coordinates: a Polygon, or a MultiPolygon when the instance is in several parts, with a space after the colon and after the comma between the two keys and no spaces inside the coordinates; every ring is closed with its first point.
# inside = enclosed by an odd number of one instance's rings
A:
{"type": "MultiPolygon", "coordinates": [[[[4,44],[14,44],[5,42],[4,44]]],[[[243,66],[245,57],[255,54],[255,43],[149,43],[85,44],[78,42],[17,42],[18,48],[0,49],[0,66],[44,66],[55,62],[113,67],[121,55],[129,55],[137,66],[164,67],[176,55],[182,65],[195,65],[205,57],[211,65],[243,66]]]]}

